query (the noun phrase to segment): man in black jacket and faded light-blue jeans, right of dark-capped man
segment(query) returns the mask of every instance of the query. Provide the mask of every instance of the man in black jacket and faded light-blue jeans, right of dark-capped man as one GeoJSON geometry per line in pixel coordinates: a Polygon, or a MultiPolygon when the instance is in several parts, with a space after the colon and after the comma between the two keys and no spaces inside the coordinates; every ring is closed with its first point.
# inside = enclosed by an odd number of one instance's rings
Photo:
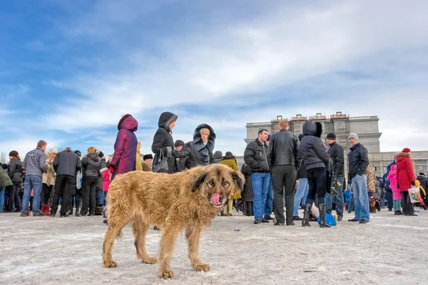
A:
{"type": "Polygon", "coordinates": [[[352,181],[355,210],[355,217],[348,221],[359,221],[360,224],[366,224],[370,221],[369,194],[367,193],[369,156],[365,146],[358,142],[357,134],[351,133],[348,139],[352,145],[348,154],[348,180],[352,181]]]}

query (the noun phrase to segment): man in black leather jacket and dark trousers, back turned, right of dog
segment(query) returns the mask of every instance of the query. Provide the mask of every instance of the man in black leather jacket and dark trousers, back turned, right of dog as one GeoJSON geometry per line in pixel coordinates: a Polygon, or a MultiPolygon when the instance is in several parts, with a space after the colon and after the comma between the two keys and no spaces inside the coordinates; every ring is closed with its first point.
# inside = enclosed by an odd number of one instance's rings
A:
{"type": "Polygon", "coordinates": [[[294,209],[294,196],[297,169],[300,166],[300,149],[297,136],[288,131],[287,120],[282,120],[278,124],[278,132],[272,134],[269,144],[269,161],[272,165],[271,177],[273,187],[273,203],[275,226],[283,226],[284,221],[284,196],[285,207],[287,209],[287,226],[294,225],[292,213],[294,209]]]}

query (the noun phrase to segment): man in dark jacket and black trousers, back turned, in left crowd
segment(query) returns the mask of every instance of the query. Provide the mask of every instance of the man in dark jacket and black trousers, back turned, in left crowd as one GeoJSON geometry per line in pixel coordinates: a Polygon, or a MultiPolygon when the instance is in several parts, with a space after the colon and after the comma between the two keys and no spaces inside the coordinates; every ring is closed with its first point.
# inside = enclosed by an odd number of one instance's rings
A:
{"type": "Polygon", "coordinates": [[[78,159],[77,154],[67,147],[59,152],[54,159],[54,169],[56,172],[55,180],[55,194],[51,206],[51,214],[55,216],[58,210],[59,197],[62,199],[60,217],[66,217],[68,200],[74,190],[76,181],[76,172],[82,168],[81,160],[78,159]]]}

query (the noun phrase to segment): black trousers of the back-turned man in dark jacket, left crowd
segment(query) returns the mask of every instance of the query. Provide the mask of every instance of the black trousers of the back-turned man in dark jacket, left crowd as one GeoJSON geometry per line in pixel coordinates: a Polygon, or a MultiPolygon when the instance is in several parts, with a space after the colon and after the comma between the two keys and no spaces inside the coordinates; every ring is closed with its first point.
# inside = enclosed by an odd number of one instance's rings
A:
{"type": "Polygon", "coordinates": [[[56,176],[55,194],[54,194],[54,201],[52,202],[51,214],[56,214],[56,211],[58,210],[58,202],[60,197],[61,197],[60,214],[61,216],[64,216],[67,214],[68,199],[70,199],[70,195],[73,192],[75,180],[76,178],[74,178],[71,175],[56,176]]]}

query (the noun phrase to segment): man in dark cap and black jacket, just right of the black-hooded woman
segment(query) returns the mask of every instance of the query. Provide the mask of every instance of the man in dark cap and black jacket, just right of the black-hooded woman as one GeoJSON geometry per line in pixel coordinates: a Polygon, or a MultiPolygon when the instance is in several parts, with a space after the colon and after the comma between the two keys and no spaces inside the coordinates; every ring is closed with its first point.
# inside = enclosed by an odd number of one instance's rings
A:
{"type": "MultiPolygon", "coordinates": [[[[327,134],[327,138],[325,139],[327,144],[330,146],[327,154],[333,161],[333,168],[335,169],[335,176],[337,177],[337,182],[339,185],[337,187],[337,195],[336,198],[336,214],[339,221],[342,221],[343,218],[343,183],[345,180],[345,159],[343,155],[343,148],[336,142],[336,134],[330,133],[327,134]]],[[[335,181],[335,179],[333,179],[335,181]]],[[[332,213],[332,196],[327,195],[325,197],[327,204],[327,213],[332,213]]]]}

